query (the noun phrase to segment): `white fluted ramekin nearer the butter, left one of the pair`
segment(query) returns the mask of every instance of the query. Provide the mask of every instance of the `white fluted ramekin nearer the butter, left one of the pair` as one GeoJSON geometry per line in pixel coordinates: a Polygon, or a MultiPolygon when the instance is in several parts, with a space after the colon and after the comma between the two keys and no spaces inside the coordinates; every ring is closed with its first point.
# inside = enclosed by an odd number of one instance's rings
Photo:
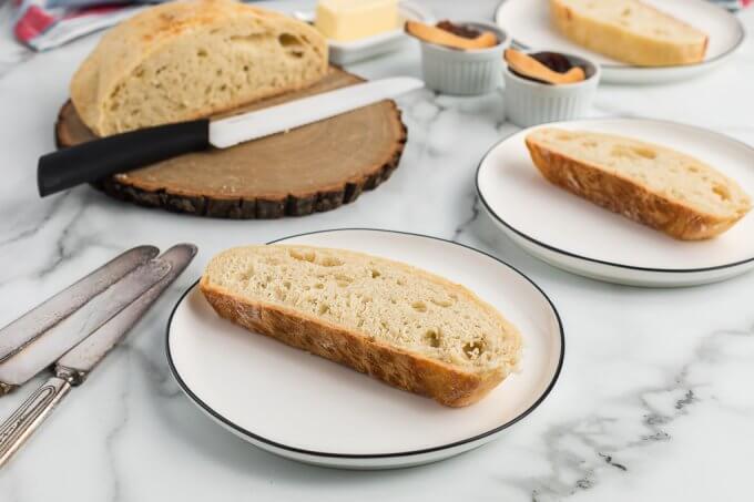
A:
{"type": "Polygon", "coordinates": [[[446,94],[477,95],[495,91],[500,85],[502,52],[510,38],[495,24],[471,21],[458,24],[491,31],[497,35],[498,44],[463,51],[420,41],[425,83],[429,89],[446,94]]]}

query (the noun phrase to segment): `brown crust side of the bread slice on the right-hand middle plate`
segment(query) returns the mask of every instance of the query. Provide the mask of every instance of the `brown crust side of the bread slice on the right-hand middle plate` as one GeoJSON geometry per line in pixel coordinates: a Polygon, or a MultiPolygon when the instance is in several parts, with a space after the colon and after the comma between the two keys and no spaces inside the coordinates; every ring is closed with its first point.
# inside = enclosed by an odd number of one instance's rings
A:
{"type": "Polygon", "coordinates": [[[526,144],[534,165],[549,182],[671,237],[681,240],[712,238],[743,217],[741,214],[724,218],[699,212],[598,165],[554,152],[531,136],[527,136],[526,144]]]}

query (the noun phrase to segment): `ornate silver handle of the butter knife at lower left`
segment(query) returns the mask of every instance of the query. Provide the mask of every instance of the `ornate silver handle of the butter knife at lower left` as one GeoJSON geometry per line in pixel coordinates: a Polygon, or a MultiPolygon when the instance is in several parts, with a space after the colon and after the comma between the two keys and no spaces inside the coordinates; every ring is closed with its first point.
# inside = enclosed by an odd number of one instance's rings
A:
{"type": "Polygon", "coordinates": [[[70,389],[68,380],[50,378],[0,426],[0,468],[8,463],[70,389]]]}

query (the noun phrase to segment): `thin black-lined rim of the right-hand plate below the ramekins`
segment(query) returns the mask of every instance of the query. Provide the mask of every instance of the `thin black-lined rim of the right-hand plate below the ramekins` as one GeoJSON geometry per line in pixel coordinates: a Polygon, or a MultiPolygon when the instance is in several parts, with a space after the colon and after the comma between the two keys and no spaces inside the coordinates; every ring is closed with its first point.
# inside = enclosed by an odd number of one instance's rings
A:
{"type": "Polygon", "coordinates": [[[620,264],[620,263],[615,263],[615,262],[608,262],[608,260],[599,259],[599,258],[591,258],[589,256],[579,255],[578,253],[572,253],[572,252],[566,250],[566,249],[561,249],[559,247],[552,246],[550,244],[546,244],[546,243],[538,240],[537,238],[526,234],[524,232],[516,228],[514,226],[512,226],[511,224],[506,222],[500,215],[498,215],[492,209],[492,207],[489,205],[487,199],[485,198],[485,194],[482,193],[481,187],[479,186],[479,173],[481,172],[481,167],[485,164],[485,161],[487,160],[487,157],[489,157],[490,153],[492,153],[493,150],[496,150],[502,143],[511,140],[513,136],[519,135],[519,134],[523,134],[527,131],[533,131],[534,129],[538,129],[538,127],[552,126],[552,125],[571,123],[571,122],[599,122],[599,121],[626,121],[626,122],[629,122],[629,121],[636,121],[636,120],[649,121],[649,122],[659,122],[659,123],[664,123],[664,124],[669,124],[669,125],[690,129],[690,130],[696,131],[696,132],[703,132],[705,134],[712,134],[712,135],[715,135],[715,136],[720,136],[721,139],[724,139],[726,141],[731,141],[733,143],[737,143],[737,144],[746,147],[747,150],[750,150],[752,152],[752,155],[754,156],[754,146],[750,146],[742,141],[738,141],[738,140],[733,139],[731,136],[726,136],[725,134],[721,134],[721,133],[717,133],[715,131],[710,131],[710,130],[703,129],[703,127],[696,127],[695,125],[682,124],[680,122],[663,121],[663,120],[658,120],[658,119],[641,119],[641,117],[633,117],[633,119],[621,119],[621,117],[578,119],[578,120],[574,120],[574,121],[562,121],[562,122],[552,122],[550,124],[532,125],[531,127],[527,127],[527,129],[523,129],[521,131],[517,131],[513,134],[506,136],[502,140],[496,142],[487,151],[487,153],[485,153],[485,155],[482,155],[481,160],[479,161],[479,165],[477,165],[477,174],[475,176],[475,184],[477,185],[477,195],[479,195],[479,199],[481,201],[481,204],[485,206],[485,209],[487,209],[487,213],[490,214],[490,216],[492,216],[492,218],[496,222],[498,222],[499,224],[501,224],[502,226],[505,226],[506,228],[508,228],[509,230],[511,230],[512,233],[514,233],[519,237],[522,237],[523,239],[529,240],[530,243],[536,244],[537,246],[543,247],[544,249],[551,250],[553,253],[558,253],[558,254],[561,254],[561,255],[564,255],[564,256],[568,256],[568,257],[571,257],[571,258],[582,259],[584,262],[595,263],[595,264],[600,264],[600,265],[608,265],[608,266],[611,266],[611,267],[623,268],[623,269],[626,269],[626,270],[639,270],[639,272],[651,272],[651,273],[663,273],[663,274],[692,274],[692,273],[697,274],[697,273],[703,273],[703,272],[722,270],[723,268],[733,268],[733,267],[737,267],[740,265],[745,265],[747,263],[754,262],[754,256],[752,256],[751,258],[742,259],[740,262],[734,262],[734,263],[724,264],[724,265],[715,265],[713,267],[652,268],[652,267],[638,267],[635,265],[626,265],[626,264],[620,264]]]}

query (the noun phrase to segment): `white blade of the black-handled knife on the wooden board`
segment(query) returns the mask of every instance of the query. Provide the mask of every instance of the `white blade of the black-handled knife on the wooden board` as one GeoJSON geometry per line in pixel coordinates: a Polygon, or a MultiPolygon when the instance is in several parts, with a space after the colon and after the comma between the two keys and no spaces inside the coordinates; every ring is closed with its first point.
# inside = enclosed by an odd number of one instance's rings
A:
{"type": "Polygon", "coordinates": [[[424,82],[419,79],[395,76],[349,85],[264,110],[221,119],[210,124],[210,143],[218,148],[227,148],[245,141],[300,127],[389,100],[422,86],[424,82]]]}

